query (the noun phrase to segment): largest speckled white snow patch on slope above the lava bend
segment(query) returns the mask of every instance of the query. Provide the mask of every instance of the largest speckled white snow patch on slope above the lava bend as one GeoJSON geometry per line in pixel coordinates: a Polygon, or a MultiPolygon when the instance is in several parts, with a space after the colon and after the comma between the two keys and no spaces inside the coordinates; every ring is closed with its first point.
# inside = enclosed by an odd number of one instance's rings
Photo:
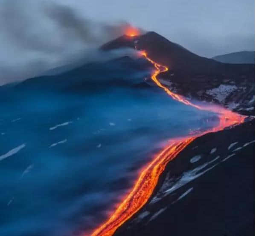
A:
{"type": "Polygon", "coordinates": [[[211,95],[219,102],[224,102],[225,99],[237,89],[236,85],[221,84],[218,88],[212,88],[206,91],[206,94],[211,95]]]}

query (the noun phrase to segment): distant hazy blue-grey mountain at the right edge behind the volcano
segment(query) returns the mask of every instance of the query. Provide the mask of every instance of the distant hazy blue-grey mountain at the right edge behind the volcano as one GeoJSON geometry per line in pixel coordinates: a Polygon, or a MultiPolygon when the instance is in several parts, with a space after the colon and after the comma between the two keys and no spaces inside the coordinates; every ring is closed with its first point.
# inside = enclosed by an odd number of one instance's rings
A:
{"type": "Polygon", "coordinates": [[[222,63],[255,64],[255,51],[237,51],[212,57],[222,63]]]}

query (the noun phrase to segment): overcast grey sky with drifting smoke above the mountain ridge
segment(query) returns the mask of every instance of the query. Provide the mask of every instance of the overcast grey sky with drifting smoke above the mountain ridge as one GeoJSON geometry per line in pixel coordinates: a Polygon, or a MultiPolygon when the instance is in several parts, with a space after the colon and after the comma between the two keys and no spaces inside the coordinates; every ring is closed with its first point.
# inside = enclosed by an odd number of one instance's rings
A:
{"type": "Polygon", "coordinates": [[[205,57],[251,51],[254,4],[254,0],[0,0],[0,85],[70,63],[77,53],[86,54],[85,49],[122,34],[127,23],[156,31],[205,57]]]}

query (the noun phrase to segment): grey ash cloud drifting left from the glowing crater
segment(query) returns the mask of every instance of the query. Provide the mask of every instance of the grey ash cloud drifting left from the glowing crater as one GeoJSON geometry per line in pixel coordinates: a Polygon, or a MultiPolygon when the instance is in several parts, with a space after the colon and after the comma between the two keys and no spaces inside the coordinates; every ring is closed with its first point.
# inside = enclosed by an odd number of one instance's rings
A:
{"type": "MultiPolygon", "coordinates": [[[[95,22],[50,0],[4,0],[0,2],[0,85],[79,58],[88,61],[93,56],[91,48],[122,35],[127,26],[126,22],[95,22]],[[90,53],[86,52],[89,48],[90,53]]],[[[99,52],[94,60],[96,55],[99,52]]]]}

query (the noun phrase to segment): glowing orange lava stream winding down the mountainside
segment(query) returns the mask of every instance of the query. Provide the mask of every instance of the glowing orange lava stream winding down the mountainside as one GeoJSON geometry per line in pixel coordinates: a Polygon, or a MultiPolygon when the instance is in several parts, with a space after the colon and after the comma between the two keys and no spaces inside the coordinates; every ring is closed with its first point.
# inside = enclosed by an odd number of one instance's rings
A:
{"type": "Polygon", "coordinates": [[[137,213],[137,211],[140,210],[140,208],[142,208],[150,198],[155,186],[157,185],[158,178],[165,169],[167,163],[174,159],[180,153],[180,151],[182,151],[194,139],[196,139],[198,136],[202,136],[203,134],[220,131],[226,127],[238,125],[244,122],[245,116],[241,116],[225,108],[215,105],[195,105],[189,100],[186,100],[185,97],[173,93],[169,90],[169,88],[162,85],[159,80],[157,80],[157,75],[161,72],[168,71],[168,67],[154,62],[147,56],[145,52],[142,52],[142,55],[156,68],[151,75],[151,79],[157,84],[157,86],[163,88],[167,94],[179,102],[182,102],[186,105],[191,105],[200,110],[218,113],[219,124],[214,128],[201,132],[200,134],[170,140],[171,144],[164,148],[163,151],[157,154],[153,160],[145,166],[145,168],[141,171],[138,179],[136,180],[131,192],[125,196],[112,216],[105,223],[94,230],[92,236],[113,235],[119,226],[121,226],[124,222],[131,218],[131,216],[137,213]]]}

